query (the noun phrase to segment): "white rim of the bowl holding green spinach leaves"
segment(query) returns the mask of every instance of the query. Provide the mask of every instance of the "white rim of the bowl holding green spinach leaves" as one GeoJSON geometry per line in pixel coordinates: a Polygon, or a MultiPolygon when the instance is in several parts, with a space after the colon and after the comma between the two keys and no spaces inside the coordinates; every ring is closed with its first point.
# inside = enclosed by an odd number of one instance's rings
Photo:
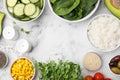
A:
{"type": "Polygon", "coordinates": [[[81,19],[79,19],[79,20],[73,20],[73,21],[67,20],[67,19],[64,19],[64,18],[58,16],[58,15],[53,11],[53,8],[52,8],[52,5],[51,5],[51,3],[50,3],[50,0],[48,0],[48,5],[49,5],[49,7],[50,7],[50,10],[52,11],[52,13],[53,13],[56,17],[60,18],[61,20],[65,21],[65,22],[70,22],[70,23],[71,23],[71,22],[81,22],[81,21],[84,21],[84,20],[88,19],[89,17],[91,17],[91,16],[96,12],[96,10],[98,9],[98,7],[99,7],[99,5],[100,5],[100,1],[101,1],[101,0],[98,0],[98,1],[97,1],[96,5],[95,5],[95,8],[94,8],[87,16],[85,16],[85,17],[83,17],[83,18],[81,18],[81,19]]]}

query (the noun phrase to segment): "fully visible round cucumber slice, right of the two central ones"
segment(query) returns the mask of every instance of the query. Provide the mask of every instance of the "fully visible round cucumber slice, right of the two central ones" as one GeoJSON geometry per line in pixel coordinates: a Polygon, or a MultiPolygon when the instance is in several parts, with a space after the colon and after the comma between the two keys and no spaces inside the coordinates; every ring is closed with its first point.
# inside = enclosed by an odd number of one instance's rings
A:
{"type": "Polygon", "coordinates": [[[24,13],[26,16],[31,16],[36,12],[36,6],[32,3],[27,4],[24,9],[24,13]]]}

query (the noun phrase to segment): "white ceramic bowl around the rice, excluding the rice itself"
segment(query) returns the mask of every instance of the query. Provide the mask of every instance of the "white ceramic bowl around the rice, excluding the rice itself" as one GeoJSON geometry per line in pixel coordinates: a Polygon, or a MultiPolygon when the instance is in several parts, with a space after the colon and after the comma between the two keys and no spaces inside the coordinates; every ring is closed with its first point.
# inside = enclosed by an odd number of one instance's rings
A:
{"type": "MultiPolygon", "coordinates": [[[[92,18],[92,19],[90,20],[90,22],[88,23],[87,37],[88,37],[88,40],[89,40],[90,44],[91,44],[96,50],[101,51],[101,52],[110,52],[110,51],[116,50],[116,49],[120,46],[120,42],[116,43],[117,45],[115,45],[115,47],[112,47],[112,48],[109,48],[109,49],[100,49],[99,47],[96,47],[95,44],[93,44],[93,42],[92,42],[92,40],[91,40],[91,38],[90,38],[90,36],[89,36],[89,33],[88,33],[88,31],[91,29],[91,26],[90,26],[91,23],[92,23],[93,21],[95,21],[96,19],[98,19],[98,18],[100,18],[100,17],[104,17],[104,16],[110,17],[110,18],[114,19],[115,21],[117,21],[117,22],[120,24],[119,19],[117,19],[117,18],[114,17],[113,15],[110,15],[110,14],[100,14],[100,15],[97,15],[97,16],[95,16],[94,18],[92,18]]],[[[97,25],[99,25],[99,24],[97,23],[97,25]]],[[[97,26],[97,25],[96,25],[96,26],[97,26]]]]}

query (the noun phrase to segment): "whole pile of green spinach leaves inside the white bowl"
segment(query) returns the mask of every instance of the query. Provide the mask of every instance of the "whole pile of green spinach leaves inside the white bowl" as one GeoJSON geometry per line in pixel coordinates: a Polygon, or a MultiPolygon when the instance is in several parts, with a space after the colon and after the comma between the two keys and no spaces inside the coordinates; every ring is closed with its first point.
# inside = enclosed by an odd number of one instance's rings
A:
{"type": "Polygon", "coordinates": [[[67,20],[78,20],[87,16],[98,0],[51,0],[54,12],[67,20]]]}

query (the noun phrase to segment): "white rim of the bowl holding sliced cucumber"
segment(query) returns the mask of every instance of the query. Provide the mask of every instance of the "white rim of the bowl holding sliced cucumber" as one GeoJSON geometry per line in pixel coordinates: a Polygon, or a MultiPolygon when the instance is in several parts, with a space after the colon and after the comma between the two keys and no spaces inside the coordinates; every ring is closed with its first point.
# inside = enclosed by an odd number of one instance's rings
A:
{"type": "Polygon", "coordinates": [[[39,17],[42,15],[42,13],[43,13],[43,11],[44,11],[44,8],[45,8],[45,0],[43,0],[43,8],[42,8],[41,12],[39,13],[39,15],[38,15],[37,17],[31,19],[31,20],[22,21],[22,20],[16,19],[14,16],[12,16],[12,15],[9,13],[9,11],[8,11],[8,9],[7,9],[6,1],[7,1],[7,0],[4,1],[4,6],[5,6],[6,13],[7,13],[7,15],[8,15],[12,20],[14,20],[14,21],[16,21],[16,22],[26,23],[26,22],[35,21],[37,18],[39,18],[39,17]]]}

